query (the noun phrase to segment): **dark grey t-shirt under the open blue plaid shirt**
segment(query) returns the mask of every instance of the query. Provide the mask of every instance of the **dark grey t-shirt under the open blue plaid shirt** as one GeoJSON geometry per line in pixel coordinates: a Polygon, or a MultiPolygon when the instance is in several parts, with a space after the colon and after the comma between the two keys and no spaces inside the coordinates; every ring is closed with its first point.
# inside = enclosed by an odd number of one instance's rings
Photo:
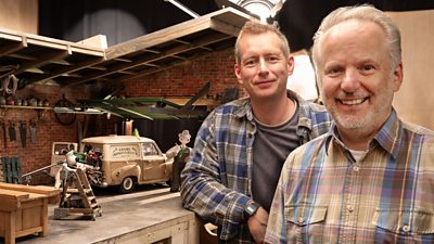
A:
{"type": "Polygon", "coordinates": [[[295,133],[298,123],[298,104],[294,115],[278,126],[267,126],[256,120],[253,144],[252,196],[268,213],[278,185],[280,172],[288,155],[299,145],[295,133]]]}

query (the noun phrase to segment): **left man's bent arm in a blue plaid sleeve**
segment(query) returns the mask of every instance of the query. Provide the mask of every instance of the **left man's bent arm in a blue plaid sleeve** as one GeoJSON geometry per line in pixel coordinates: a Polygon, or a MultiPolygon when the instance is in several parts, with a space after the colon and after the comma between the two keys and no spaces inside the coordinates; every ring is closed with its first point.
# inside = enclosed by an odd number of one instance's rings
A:
{"type": "MultiPolygon", "coordinates": [[[[220,155],[222,156],[222,155],[220,155]]],[[[250,197],[228,189],[222,182],[217,156],[213,114],[197,132],[192,156],[182,170],[181,197],[183,206],[203,219],[221,226],[220,239],[237,234],[243,221],[243,210],[250,197]]]]}

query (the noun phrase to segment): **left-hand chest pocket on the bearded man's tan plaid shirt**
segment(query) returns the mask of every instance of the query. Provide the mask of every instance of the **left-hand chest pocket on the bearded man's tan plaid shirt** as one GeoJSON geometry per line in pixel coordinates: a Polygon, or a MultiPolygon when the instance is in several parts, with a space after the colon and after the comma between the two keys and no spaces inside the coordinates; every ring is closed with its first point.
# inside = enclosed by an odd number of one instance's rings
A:
{"type": "Polygon", "coordinates": [[[322,243],[327,206],[286,206],[286,236],[289,243],[322,243]]]}

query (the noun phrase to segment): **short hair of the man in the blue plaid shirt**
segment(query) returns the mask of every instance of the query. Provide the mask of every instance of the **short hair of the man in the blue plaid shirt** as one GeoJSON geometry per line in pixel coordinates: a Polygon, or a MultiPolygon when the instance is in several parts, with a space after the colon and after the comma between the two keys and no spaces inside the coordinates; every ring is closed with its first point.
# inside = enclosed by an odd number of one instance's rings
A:
{"type": "Polygon", "coordinates": [[[234,48],[234,56],[237,64],[240,64],[241,61],[241,52],[240,52],[240,40],[243,38],[245,34],[251,35],[259,35],[265,33],[273,33],[279,37],[281,42],[281,49],[283,51],[284,56],[288,59],[290,55],[290,44],[288,42],[286,37],[279,30],[279,27],[276,23],[273,24],[266,24],[261,23],[257,20],[247,21],[244,26],[242,27],[240,34],[238,35],[235,48],[234,48]]]}

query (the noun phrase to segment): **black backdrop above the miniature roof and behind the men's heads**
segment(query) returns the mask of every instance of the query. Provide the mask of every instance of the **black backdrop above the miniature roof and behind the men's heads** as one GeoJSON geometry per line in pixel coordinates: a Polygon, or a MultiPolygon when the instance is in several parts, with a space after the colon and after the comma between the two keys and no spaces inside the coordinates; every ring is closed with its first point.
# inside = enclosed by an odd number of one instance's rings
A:
{"type": "MultiPolygon", "coordinates": [[[[234,7],[227,0],[177,0],[199,15],[234,7]]],[[[309,49],[321,20],[343,5],[371,3],[384,11],[434,9],[432,0],[286,0],[276,16],[289,37],[291,49],[309,49]]],[[[240,10],[241,8],[239,8],[240,10]]],[[[103,34],[108,46],[191,20],[165,0],[40,0],[39,35],[79,41],[103,34]]]]}

